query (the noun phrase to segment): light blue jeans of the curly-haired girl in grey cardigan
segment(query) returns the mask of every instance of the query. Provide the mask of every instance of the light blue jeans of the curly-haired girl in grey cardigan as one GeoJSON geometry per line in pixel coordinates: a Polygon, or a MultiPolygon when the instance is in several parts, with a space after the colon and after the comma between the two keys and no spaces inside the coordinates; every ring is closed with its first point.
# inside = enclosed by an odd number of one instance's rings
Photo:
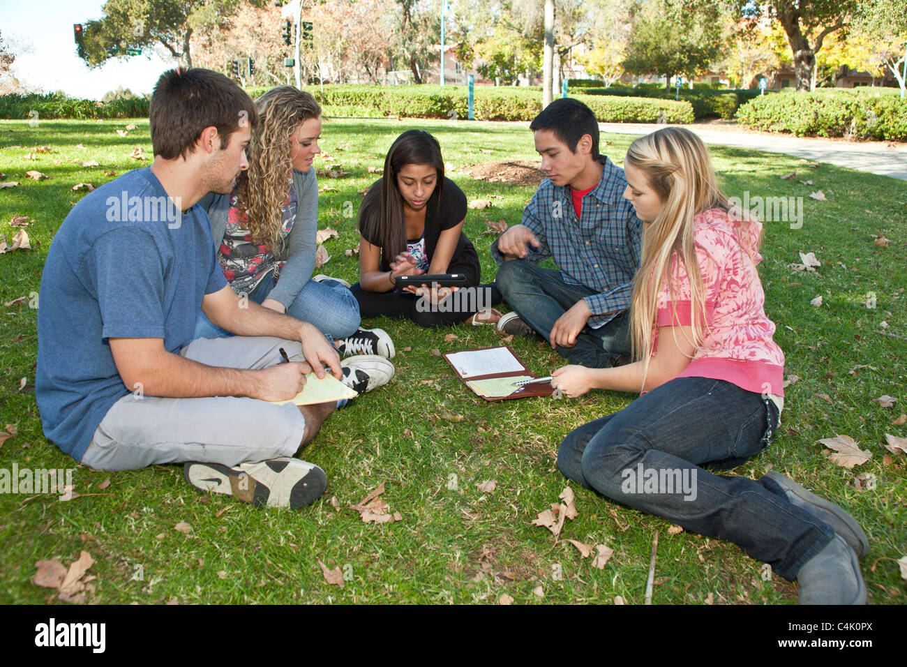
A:
{"type": "MultiPolygon", "coordinates": [[[[268,298],[274,284],[274,274],[268,273],[249,294],[249,299],[260,304],[268,298]]],[[[359,328],[359,304],[356,297],[336,280],[309,280],[289,305],[287,314],[315,325],[330,340],[352,336],[359,328]]],[[[193,340],[232,335],[211,324],[211,320],[203,312],[199,312],[193,340]]]]}

